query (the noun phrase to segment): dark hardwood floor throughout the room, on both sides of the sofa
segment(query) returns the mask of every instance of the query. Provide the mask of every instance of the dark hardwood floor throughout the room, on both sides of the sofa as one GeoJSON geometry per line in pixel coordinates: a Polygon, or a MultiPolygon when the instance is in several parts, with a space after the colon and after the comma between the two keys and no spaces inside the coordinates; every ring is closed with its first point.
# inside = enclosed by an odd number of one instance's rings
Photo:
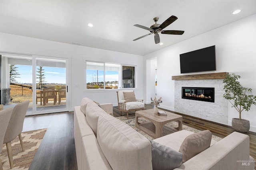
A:
{"type": "MultiPolygon", "coordinates": [[[[146,109],[154,105],[146,104],[146,109]]],[[[164,109],[163,109],[164,110],[164,109]]],[[[167,110],[168,111],[168,110],[167,110]]],[[[125,115],[126,113],[124,113],[125,115]]],[[[135,112],[129,112],[129,115],[135,112]]],[[[180,113],[177,113],[180,114],[180,113]]],[[[114,117],[120,116],[118,107],[113,107],[114,117]]],[[[211,121],[183,115],[183,124],[199,130],[209,129],[218,137],[226,137],[233,129],[211,121]]],[[[51,113],[26,116],[23,131],[47,128],[42,143],[38,148],[30,170],[77,170],[74,144],[74,112],[51,113]]],[[[250,136],[250,155],[256,159],[256,133],[245,133],[250,136]]]]}

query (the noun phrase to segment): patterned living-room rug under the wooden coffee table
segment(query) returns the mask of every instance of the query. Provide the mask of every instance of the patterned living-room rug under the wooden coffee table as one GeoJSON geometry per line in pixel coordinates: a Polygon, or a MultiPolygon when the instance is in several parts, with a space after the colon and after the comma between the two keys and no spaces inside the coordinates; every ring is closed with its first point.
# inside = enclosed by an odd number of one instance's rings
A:
{"type": "MultiPolygon", "coordinates": [[[[126,123],[127,125],[129,125],[130,127],[132,127],[133,129],[135,129],[137,132],[141,133],[144,137],[146,137],[147,139],[152,140],[152,137],[148,136],[146,133],[144,133],[143,131],[141,131],[140,129],[138,129],[137,127],[135,127],[135,116],[130,116],[129,119],[127,119],[126,116],[120,116],[120,117],[116,117],[117,119],[123,121],[124,123],[126,123]]],[[[149,120],[145,119],[144,117],[139,117],[138,118],[138,122],[139,123],[144,123],[144,122],[149,122],[149,120]]],[[[168,127],[178,127],[178,123],[175,121],[172,121],[170,123],[166,123],[165,126],[168,127]]],[[[189,127],[187,125],[182,125],[182,130],[187,130],[187,131],[191,131],[194,133],[200,132],[200,130],[195,129],[193,127],[189,127]]],[[[215,135],[212,135],[212,139],[215,141],[220,141],[222,138],[217,137],[215,135]]]]}

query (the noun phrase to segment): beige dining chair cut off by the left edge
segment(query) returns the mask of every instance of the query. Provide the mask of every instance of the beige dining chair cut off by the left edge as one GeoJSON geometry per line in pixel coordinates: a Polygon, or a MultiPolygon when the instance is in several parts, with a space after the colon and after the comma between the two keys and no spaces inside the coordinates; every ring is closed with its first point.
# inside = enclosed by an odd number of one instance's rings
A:
{"type": "MultiPolygon", "coordinates": [[[[12,115],[13,108],[8,108],[0,111],[0,153],[3,149],[4,135],[12,115]]],[[[0,159],[0,170],[3,170],[2,162],[0,159]]]]}

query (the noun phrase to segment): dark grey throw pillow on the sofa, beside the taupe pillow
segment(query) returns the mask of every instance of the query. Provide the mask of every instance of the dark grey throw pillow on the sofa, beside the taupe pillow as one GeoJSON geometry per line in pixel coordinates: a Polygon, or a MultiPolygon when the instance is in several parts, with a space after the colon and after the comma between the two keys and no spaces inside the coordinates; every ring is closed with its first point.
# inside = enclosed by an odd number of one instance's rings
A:
{"type": "Polygon", "coordinates": [[[150,140],[153,170],[172,170],[182,164],[183,154],[150,140]]]}

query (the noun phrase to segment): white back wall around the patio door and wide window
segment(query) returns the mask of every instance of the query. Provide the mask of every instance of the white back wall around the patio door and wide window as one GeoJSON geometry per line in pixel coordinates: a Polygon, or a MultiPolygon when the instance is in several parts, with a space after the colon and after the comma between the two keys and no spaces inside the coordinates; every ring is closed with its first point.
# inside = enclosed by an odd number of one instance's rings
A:
{"type": "Polygon", "coordinates": [[[80,105],[83,97],[89,97],[99,103],[113,103],[117,106],[117,90],[86,90],[85,86],[85,60],[102,61],[137,66],[137,98],[143,98],[143,57],[115,51],[108,51],[90,47],[58,43],[42,39],[23,37],[0,33],[0,52],[22,53],[63,57],[71,59],[71,84],[69,84],[71,99],[70,107],[80,105]]]}

